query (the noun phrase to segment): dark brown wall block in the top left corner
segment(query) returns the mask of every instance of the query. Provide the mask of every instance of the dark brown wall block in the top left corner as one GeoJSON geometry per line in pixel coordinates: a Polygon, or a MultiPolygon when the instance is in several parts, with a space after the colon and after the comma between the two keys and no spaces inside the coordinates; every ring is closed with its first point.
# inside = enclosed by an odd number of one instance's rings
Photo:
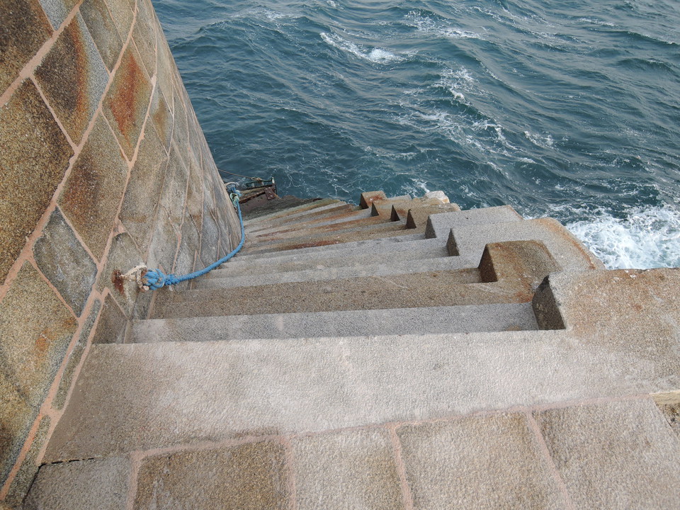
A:
{"type": "Polygon", "coordinates": [[[50,38],[52,27],[38,0],[5,0],[0,4],[0,94],[50,38]]]}

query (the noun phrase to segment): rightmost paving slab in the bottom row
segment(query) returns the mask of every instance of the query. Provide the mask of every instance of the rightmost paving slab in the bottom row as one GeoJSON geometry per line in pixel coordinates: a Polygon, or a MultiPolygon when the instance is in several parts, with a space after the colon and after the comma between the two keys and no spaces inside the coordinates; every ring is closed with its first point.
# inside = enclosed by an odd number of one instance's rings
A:
{"type": "Polygon", "coordinates": [[[680,501],[680,441],[651,399],[536,413],[579,509],[670,509],[680,501]]]}

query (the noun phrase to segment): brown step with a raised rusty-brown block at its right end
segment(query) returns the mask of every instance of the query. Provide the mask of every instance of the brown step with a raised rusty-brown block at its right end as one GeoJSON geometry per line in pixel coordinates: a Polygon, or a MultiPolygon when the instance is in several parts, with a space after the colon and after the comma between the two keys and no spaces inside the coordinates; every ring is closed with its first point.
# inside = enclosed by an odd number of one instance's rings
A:
{"type": "Polygon", "coordinates": [[[153,318],[528,302],[556,267],[540,242],[489,244],[478,269],[164,293],[153,318]]]}

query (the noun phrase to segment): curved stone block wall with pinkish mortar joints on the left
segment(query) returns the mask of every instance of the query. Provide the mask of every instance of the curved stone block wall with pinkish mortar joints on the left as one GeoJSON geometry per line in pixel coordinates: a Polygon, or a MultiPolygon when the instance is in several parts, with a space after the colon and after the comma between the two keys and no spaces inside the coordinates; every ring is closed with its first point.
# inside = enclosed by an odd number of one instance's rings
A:
{"type": "Polygon", "coordinates": [[[2,0],[0,20],[0,502],[17,504],[89,346],[153,306],[115,271],[193,271],[240,232],[150,0],[2,0]]]}

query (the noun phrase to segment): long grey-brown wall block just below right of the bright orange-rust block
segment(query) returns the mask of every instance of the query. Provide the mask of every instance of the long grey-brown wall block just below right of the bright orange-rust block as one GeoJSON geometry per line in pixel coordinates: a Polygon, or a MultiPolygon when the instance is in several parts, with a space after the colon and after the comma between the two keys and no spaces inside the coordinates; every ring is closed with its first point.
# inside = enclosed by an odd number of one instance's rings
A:
{"type": "Polygon", "coordinates": [[[144,252],[151,242],[151,226],[156,215],[159,190],[163,188],[166,165],[167,156],[162,142],[154,130],[145,130],[119,215],[125,229],[144,252]]]}

